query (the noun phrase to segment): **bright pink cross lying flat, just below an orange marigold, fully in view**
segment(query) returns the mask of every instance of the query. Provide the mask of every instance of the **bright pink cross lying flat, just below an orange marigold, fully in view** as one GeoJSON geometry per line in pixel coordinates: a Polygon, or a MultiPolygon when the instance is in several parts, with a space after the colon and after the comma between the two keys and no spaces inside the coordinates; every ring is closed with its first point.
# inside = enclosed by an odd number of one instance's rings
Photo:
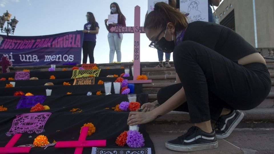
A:
{"type": "Polygon", "coordinates": [[[74,154],[81,154],[84,147],[104,147],[106,140],[86,140],[88,127],[83,127],[78,141],[58,141],[55,144],[56,148],[74,148],[74,154]]]}

